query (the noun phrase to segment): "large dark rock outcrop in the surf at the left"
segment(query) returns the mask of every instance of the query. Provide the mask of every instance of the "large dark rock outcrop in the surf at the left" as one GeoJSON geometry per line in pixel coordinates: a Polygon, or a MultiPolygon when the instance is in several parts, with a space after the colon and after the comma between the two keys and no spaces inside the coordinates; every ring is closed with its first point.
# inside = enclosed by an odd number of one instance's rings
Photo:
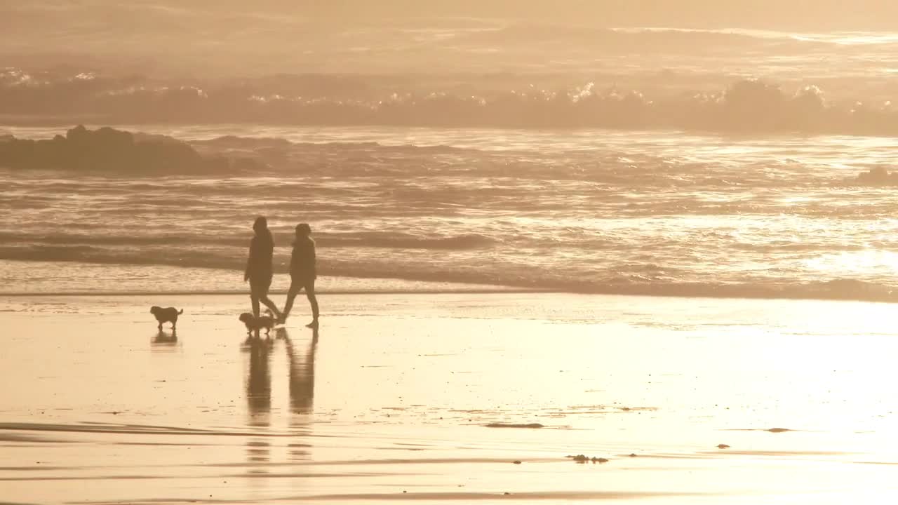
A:
{"type": "Polygon", "coordinates": [[[134,135],[108,127],[90,130],[84,126],[52,139],[2,137],[0,166],[14,170],[146,175],[233,173],[264,168],[252,159],[203,156],[170,137],[134,135]]]}

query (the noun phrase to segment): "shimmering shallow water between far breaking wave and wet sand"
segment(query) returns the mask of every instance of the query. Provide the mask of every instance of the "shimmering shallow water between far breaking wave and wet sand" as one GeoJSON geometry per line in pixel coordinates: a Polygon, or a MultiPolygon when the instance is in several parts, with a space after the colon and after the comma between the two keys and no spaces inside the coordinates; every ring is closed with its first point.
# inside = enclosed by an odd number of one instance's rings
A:
{"type": "Polygon", "coordinates": [[[362,288],[372,290],[423,281],[893,300],[898,285],[894,189],[856,181],[889,166],[891,137],[125,128],[269,168],[153,177],[128,167],[4,170],[0,268],[12,279],[4,292],[239,291],[256,216],[269,217],[279,271],[293,227],[308,222],[321,275],[348,290],[368,279],[362,288]]]}

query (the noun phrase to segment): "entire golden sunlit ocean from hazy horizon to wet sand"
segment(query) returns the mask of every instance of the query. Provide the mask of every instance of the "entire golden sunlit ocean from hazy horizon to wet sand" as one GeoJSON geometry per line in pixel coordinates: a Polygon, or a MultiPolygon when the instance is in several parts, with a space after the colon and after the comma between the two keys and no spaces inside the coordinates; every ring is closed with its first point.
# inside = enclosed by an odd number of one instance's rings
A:
{"type": "Polygon", "coordinates": [[[4,8],[43,56],[5,58],[0,134],[265,165],[0,169],[6,293],[242,291],[267,216],[281,272],[312,225],[325,290],[895,298],[896,182],[858,179],[894,163],[894,32],[4,8]]]}

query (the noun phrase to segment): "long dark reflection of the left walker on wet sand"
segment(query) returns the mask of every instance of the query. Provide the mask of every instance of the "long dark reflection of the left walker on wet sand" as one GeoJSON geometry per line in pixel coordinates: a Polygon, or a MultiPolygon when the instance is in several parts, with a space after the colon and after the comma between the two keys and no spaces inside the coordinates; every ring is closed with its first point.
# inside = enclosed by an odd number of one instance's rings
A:
{"type": "MultiPolygon", "coordinates": [[[[246,401],[250,413],[249,425],[256,428],[268,428],[271,424],[271,358],[269,339],[250,337],[243,343],[243,351],[250,355],[250,373],[246,381],[246,401]]],[[[248,439],[246,442],[247,459],[251,465],[251,474],[266,473],[266,464],[270,457],[270,444],[266,437],[248,439]]]]}

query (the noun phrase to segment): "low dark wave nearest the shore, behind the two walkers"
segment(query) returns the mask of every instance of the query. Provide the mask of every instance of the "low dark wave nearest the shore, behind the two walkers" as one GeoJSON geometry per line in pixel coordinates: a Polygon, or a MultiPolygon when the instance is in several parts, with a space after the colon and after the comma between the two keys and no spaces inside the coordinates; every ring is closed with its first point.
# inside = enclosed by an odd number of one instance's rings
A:
{"type": "MultiPolygon", "coordinates": [[[[182,250],[176,253],[165,249],[133,253],[130,250],[112,251],[84,245],[32,245],[0,246],[0,260],[77,262],[106,265],[115,270],[120,265],[164,265],[190,269],[219,270],[221,276],[239,276],[242,259],[228,254],[202,250],[182,250]]],[[[320,268],[323,276],[347,279],[401,279],[428,283],[471,284],[480,288],[554,291],[581,294],[629,295],[648,297],[730,297],[730,298],[794,298],[857,300],[898,303],[898,288],[862,279],[825,279],[806,281],[779,277],[763,281],[744,282],[686,282],[671,279],[657,265],[632,265],[630,270],[642,271],[621,275],[604,271],[597,275],[591,271],[553,272],[551,270],[525,269],[522,266],[497,269],[495,267],[470,266],[457,268],[438,264],[409,264],[403,261],[325,261],[320,268]]],[[[276,261],[276,273],[286,275],[286,264],[276,261]]],[[[236,277],[234,277],[236,278],[236,277]]],[[[70,290],[90,290],[89,279],[78,288],[78,280],[67,279],[70,290]],[[72,286],[75,285],[75,288],[72,286]]],[[[177,287],[175,287],[177,288],[177,287]]],[[[392,285],[385,284],[384,290],[392,285]]],[[[7,289],[9,290],[9,289],[7,289]]],[[[27,293],[28,287],[13,287],[16,293],[27,293]]],[[[373,290],[367,285],[365,291],[373,290]]],[[[179,292],[183,291],[179,288],[179,292]]],[[[374,291],[376,289],[374,288],[374,291]]],[[[198,291],[199,292],[199,291],[198,291]]]]}

